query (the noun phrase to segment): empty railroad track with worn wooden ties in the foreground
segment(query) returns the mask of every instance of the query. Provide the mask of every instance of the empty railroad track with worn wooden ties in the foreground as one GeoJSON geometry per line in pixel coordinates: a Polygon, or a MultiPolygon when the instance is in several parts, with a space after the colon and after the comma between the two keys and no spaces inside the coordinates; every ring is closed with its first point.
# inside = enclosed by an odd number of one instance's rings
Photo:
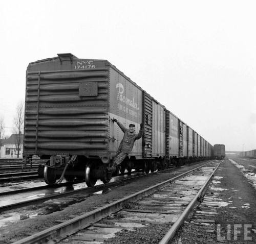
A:
{"type": "MultiPolygon", "coordinates": [[[[148,235],[158,230],[159,225],[166,227],[166,224],[169,230],[166,230],[164,236],[156,233],[157,239],[153,242],[158,243],[160,240],[161,244],[169,243],[193,210],[220,163],[221,161],[205,163],[15,243],[98,243],[114,237],[117,232],[121,233],[118,238],[129,235],[130,242],[145,238],[151,243],[148,235]],[[146,231],[139,231],[143,229],[146,231]],[[133,231],[130,232],[131,230],[133,231]]],[[[109,241],[111,243],[111,239],[109,241]]],[[[114,239],[113,242],[118,241],[114,239]]]]}

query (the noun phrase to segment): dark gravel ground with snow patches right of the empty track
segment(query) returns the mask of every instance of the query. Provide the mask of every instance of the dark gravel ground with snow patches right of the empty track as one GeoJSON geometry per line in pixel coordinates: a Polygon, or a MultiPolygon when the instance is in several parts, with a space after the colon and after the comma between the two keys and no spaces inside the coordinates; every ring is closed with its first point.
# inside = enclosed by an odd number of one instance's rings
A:
{"type": "Polygon", "coordinates": [[[256,243],[256,191],[243,167],[222,163],[172,243],[256,243]]]}

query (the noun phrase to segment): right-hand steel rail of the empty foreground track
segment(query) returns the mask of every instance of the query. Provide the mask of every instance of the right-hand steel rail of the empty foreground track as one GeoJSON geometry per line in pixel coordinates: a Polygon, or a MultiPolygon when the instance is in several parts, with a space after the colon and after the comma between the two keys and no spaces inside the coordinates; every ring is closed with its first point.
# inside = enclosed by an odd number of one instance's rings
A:
{"type": "Polygon", "coordinates": [[[164,237],[161,239],[159,244],[168,244],[172,241],[174,238],[176,232],[179,230],[180,226],[184,223],[185,219],[189,215],[189,213],[194,209],[194,206],[196,202],[198,201],[198,198],[202,195],[204,189],[208,185],[209,181],[211,180],[212,176],[214,176],[216,170],[220,166],[220,164],[223,162],[223,160],[220,161],[220,163],[215,168],[214,172],[209,176],[207,181],[204,183],[202,188],[199,190],[199,192],[196,194],[195,198],[188,204],[188,206],[185,208],[185,210],[182,212],[182,214],[179,216],[177,221],[173,224],[173,226],[168,230],[168,232],[164,235],[164,237]]]}

